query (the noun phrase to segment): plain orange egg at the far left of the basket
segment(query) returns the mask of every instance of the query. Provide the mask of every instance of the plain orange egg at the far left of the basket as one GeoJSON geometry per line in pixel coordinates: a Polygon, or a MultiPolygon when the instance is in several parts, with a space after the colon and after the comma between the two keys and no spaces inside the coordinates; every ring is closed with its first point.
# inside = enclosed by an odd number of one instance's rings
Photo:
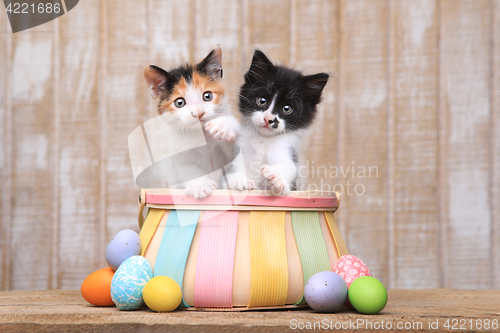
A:
{"type": "Polygon", "coordinates": [[[80,288],[83,298],[96,306],[114,305],[111,299],[111,280],[114,274],[111,267],[106,267],[87,276],[80,288]]]}

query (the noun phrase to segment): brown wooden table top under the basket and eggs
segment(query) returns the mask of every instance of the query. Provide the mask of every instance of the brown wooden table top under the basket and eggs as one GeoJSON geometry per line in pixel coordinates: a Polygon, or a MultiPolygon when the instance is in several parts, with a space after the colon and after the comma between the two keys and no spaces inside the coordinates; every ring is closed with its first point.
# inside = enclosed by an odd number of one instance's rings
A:
{"type": "Polygon", "coordinates": [[[377,315],[311,309],[246,312],[120,311],[94,307],[77,290],[0,292],[0,332],[293,332],[316,328],[343,332],[500,331],[500,290],[389,291],[377,315]],[[314,326],[316,325],[316,326],[314,326]],[[488,329],[489,327],[489,329],[488,329]],[[406,329],[405,329],[406,328],[406,329]]]}

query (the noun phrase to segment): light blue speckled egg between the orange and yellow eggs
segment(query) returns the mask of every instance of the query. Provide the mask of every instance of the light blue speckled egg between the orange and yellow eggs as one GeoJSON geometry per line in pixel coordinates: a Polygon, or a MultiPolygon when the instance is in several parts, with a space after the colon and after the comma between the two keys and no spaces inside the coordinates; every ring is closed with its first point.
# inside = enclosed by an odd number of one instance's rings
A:
{"type": "Polygon", "coordinates": [[[120,310],[135,310],[142,303],[142,291],[153,277],[149,261],[141,256],[125,260],[111,281],[111,299],[120,310]]]}

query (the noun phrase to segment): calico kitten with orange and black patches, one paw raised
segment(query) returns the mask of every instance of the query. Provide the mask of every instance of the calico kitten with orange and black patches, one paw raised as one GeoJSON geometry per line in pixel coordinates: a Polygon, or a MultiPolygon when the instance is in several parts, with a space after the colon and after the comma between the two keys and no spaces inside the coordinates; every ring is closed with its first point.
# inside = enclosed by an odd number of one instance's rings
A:
{"type": "Polygon", "coordinates": [[[182,142],[176,137],[185,140],[187,136],[188,141],[189,138],[199,139],[203,131],[205,138],[201,138],[206,140],[208,147],[187,151],[177,156],[168,167],[169,187],[185,188],[186,195],[196,198],[204,198],[217,188],[221,175],[220,172],[214,174],[217,167],[213,161],[224,164],[230,151],[227,152],[222,142],[234,141],[238,129],[238,122],[225,100],[221,77],[222,51],[219,46],[194,66],[188,64],[167,72],[149,65],[144,70],[157,111],[165,119],[165,128],[172,133],[165,144],[182,142]],[[172,179],[176,185],[171,183],[172,179]]]}

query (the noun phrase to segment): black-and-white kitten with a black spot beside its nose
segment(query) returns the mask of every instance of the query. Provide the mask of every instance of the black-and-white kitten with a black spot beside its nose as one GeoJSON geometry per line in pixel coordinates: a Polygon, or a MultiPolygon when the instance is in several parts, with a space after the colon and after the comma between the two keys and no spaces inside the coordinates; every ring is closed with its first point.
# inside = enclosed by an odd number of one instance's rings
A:
{"type": "Polygon", "coordinates": [[[233,164],[229,188],[269,189],[280,195],[298,189],[300,146],[327,81],[328,74],[303,75],[255,51],[239,98],[236,144],[245,165],[233,164]]]}

